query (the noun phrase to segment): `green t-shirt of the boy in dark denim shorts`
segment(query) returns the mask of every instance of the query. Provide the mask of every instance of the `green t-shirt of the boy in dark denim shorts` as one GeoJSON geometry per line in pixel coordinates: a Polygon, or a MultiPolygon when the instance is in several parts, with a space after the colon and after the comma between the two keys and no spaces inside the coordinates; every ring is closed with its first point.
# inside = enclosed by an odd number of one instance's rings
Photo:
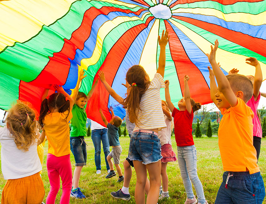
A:
{"type": "Polygon", "coordinates": [[[70,137],[86,136],[87,114],[84,108],[79,108],[76,104],[72,109],[70,137]]]}

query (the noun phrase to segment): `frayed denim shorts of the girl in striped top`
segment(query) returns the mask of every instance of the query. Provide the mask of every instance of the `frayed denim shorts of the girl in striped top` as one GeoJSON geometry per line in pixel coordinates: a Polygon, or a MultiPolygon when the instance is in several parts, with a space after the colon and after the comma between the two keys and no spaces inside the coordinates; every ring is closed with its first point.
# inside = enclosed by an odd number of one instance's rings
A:
{"type": "Polygon", "coordinates": [[[162,158],[160,139],[154,132],[133,132],[130,137],[128,158],[142,161],[142,164],[160,161],[162,158]]]}

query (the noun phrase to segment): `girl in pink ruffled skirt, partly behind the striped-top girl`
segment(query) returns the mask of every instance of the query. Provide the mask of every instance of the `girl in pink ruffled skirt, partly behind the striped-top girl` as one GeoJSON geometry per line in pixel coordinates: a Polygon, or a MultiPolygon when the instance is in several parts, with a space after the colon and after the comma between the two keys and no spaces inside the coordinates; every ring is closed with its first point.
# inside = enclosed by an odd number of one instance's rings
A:
{"type": "Polygon", "coordinates": [[[166,101],[161,101],[162,111],[164,113],[164,121],[166,124],[166,128],[161,129],[158,132],[158,137],[161,142],[161,180],[162,180],[162,186],[160,186],[160,197],[159,200],[166,198],[169,199],[169,193],[168,193],[168,176],[166,173],[166,167],[168,162],[175,162],[177,160],[176,154],[173,151],[172,148],[172,142],[171,142],[171,124],[172,124],[172,115],[169,112],[169,107],[166,104],[166,101]],[[162,191],[163,189],[163,191],[162,191]]]}

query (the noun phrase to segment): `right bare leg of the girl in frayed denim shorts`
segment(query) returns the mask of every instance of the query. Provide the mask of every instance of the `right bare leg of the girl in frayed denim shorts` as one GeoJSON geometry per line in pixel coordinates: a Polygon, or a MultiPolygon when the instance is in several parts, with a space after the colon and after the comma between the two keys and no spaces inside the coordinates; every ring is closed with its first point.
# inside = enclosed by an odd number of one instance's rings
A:
{"type": "MultiPolygon", "coordinates": [[[[135,166],[135,164],[134,164],[135,166]]],[[[159,198],[159,187],[161,178],[161,160],[155,163],[146,164],[150,175],[150,191],[147,195],[146,204],[156,204],[159,198]]],[[[136,195],[136,194],[135,194],[136,195]]]]}

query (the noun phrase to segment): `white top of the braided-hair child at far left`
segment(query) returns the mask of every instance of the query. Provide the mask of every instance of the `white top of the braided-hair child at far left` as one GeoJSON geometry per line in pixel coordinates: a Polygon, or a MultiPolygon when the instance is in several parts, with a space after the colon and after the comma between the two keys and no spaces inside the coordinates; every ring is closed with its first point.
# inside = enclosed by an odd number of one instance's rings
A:
{"type": "Polygon", "coordinates": [[[1,168],[5,180],[31,176],[42,170],[36,143],[27,152],[23,152],[17,148],[6,126],[0,127],[0,142],[1,168]]]}

